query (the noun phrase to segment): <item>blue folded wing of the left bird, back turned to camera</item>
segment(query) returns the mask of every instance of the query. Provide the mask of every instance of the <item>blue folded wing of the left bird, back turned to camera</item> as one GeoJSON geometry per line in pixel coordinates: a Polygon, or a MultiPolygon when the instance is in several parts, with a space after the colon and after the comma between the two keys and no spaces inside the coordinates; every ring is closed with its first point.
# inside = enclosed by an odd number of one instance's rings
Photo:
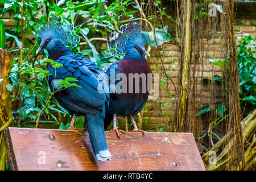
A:
{"type": "Polygon", "coordinates": [[[65,55],[61,56],[57,62],[62,63],[63,67],[50,68],[49,85],[59,88],[60,80],[65,80],[67,77],[76,78],[78,81],[71,83],[77,84],[55,95],[55,98],[64,106],[65,109],[72,113],[96,114],[98,110],[102,110],[102,115],[105,115],[105,106],[108,105],[109,94],[104,92],[108,86],[108,79],[105,73],[101,71],[92,61],[85,59],[80,55],[65,55]]]}

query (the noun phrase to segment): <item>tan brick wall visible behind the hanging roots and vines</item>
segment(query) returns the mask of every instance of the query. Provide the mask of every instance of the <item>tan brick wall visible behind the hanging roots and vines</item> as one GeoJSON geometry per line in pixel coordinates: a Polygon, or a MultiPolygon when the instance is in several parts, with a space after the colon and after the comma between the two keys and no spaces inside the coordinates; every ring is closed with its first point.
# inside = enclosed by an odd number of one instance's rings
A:
{"type": "MultiPolygon", "coordinates": [[[[236,26],[235,26],[235,36],[242,36],[243,34],[248,34],[251,36],[256,35],[256,2],[254,3],[237,3],[237,11],[236,11],[236,26]]],[[[174,15],[174,11],[170,6],[170,10],[167,13],[174,15]]],[[[175,19],[175,17],[174,17],[175,19]]],[[[168,23],[169,31],[172,33],[175,30],[175,23],[168,23]]],[[[212,59],[223,59],[224,55],[221,53],[220,48],[218,45],[213,44],[213,42],[217,42],[218,39],[211,39],[211,40],[204,40],[204,50],[207,51],[204,53],[208,53],[209,58],[212,59]]],[[[178,57],[179,57],[179,48],[176,46],[166,44],[164,55],[170,55],[164,59],[164,68],[167,71],[167,74],[170,75],[172,81],[177,88],[177,81],[178,81],[178,73],[179,67],[177,65],[178,57]]],[[[156,67],[158,70],[161,70],[162,67],[160,58],[158,53],[152,49],[150,52],[152,55],[149,57],[148,63],[151,66],[152,72],[156,72],[156,67]]],[[[203,81],[201,76],[203,77],[213,77],[214,75],[220,75],[220,68],[214,66],[212,63],[209,62],[209,59],[204,60],[203,65],[198,65],[196,70],[196,88],[198,92],[196,93],[198,104],[196,105],[196,109],[200,109],[201,106],[213,104],[219,105],[222,102],[221,98],[221,85],[217,82],[213,84],[214,88],[210,88],[207,82],[203,81]],[[214,90],[214,96],[210,89],[214,90]]],[[[163,82],[167,82],[164,80],[163,82]]],[[[142,120],[142,129],[147,131],[157,131],[161,128],[167,126],[167,121],[170,120],[175,114],[175,103],[169,104],[164,107],[161,107],[161,100],[165,102],[174,102],[175,100],[175,87],[172,85],[170,81],[168,81],[168,88],[164,87],[166,90],[165,93],[160,91],[160,98],[158,100],[148,100],[146,106],[143,110],[143,120],[142,120]],[[167,93],[168,90],[168,93],[167,93]]],[[[191,94],[191,93],[190,93],[191,94]]],[[[203,129],[208,126],[208,115],[205,114],[202,116],[203,119],[203,129]]],[[[138,117],[135,117],[135,120],[138,122],[138,117]]],[[[119,126],[124,129],[124,125],[121,122],[122,118],[118,119],[119,126]]],[[[129,129],[132,129],[129,126],[129,129]]]]}

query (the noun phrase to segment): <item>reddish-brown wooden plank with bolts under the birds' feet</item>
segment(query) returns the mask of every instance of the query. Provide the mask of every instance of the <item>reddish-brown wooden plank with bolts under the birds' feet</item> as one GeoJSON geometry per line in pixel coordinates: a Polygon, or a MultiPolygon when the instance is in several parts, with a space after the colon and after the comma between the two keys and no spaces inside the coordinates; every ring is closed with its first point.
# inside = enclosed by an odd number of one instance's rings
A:
{"type": "Polygon", "coordinates": [[[205,170],[191,133],[106,131],[112,159],[93,155],[88,131],[8,128],[6,148],[13,170],[205,170]]]}

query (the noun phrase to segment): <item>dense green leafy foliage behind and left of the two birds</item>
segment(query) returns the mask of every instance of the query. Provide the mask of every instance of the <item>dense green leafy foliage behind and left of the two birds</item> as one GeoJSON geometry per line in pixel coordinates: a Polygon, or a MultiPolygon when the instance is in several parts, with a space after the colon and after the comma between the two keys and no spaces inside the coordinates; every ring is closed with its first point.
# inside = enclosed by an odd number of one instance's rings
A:
{"type": "MultiPolygon", "coordinates": [[[[56,3],[32,0],[24,1],[24,4],[23,1],[10,0],[1,1],[0,6],[0,46],[5,48],[7,45],[6,48],[14,55],[9,73],[12,84],[6,85],[11,97],[18,101],[13,106],[14,126],[35,127],[35,122],[38,121],[45,126],[59,126],[60,129],[67,128],[63,125],[63,119],[70,121],[71,116],[56,102],[52,97],[54,93],[49,90],[45,60],[47,51],[44,50],[43,57],[36,55],[40,41],[39,27],[56,18],[72,24],[75,33],[80,37],[77,46],[71,47],[72,51],[88,57],[106,70],[112,61],[119,59],[107,50],[108,36],[121,24],[129,22],[140,8],[131,0],[114,1],[109,5],[105,1],[91,0],[56,3]],[[134,7],[133,10],[127,10],[128,6],[134,7]],[[13,22],[14,26],[5,26],[8,22],[13,22]]],[[[155,33],[151,31],[148,36],[148,43],[151,42],[153,47],[170,39],[166,28],[156,30],[155,33]]],[[[65,84],[71,86],[68,82],[65,84]]],[[[81,117],[77,120],[76,127],[82,128],[84,119],[81,117]]]]}

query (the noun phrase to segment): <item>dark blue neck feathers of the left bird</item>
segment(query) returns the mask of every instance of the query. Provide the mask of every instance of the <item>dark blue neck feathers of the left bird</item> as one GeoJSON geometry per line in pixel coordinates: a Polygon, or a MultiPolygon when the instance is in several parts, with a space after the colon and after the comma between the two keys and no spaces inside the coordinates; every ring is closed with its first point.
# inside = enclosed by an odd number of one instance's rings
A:
{"type": "Polygon", "coordinates": [[[52,60],[57,60],[59,57],[67,55],[71,53],[71,49],[65,47],[63,43],[57,42],[55,46],[51,49],[47,49],[48,51],[48,58],[52,60]]]}

